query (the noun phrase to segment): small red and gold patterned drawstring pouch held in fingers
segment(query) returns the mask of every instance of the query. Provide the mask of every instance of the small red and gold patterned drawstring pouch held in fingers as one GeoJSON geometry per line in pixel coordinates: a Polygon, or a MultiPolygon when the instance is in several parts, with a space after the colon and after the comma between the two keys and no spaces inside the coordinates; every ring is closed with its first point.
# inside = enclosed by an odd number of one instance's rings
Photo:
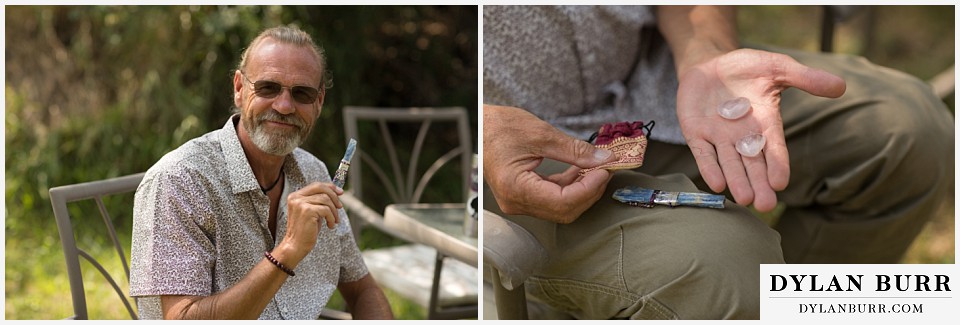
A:
{"type": "Polygon", "coordinates": [[[580,175],[597,169],[618,170],[642,166],[643,155],[647,151],[647,136],[650,135],[653,125],[653,121],[648,124],[636,121],[607,123],[601,126],[600,132],[594,138],[594,146],[613,151],[619,159],[597,167],[582,169],[580,175]]]}

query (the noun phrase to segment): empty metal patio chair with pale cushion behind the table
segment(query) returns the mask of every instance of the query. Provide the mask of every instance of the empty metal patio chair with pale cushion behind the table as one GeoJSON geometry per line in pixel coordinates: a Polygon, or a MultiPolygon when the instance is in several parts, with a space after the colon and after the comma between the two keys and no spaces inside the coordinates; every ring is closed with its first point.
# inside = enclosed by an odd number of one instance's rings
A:
{"type": "MultiPolygon", "coordinates": [[[[457,197],[462,199],[455,202],[465,201],[470,182],[472,142],[464,108],[348,106],[344,108],[343,119],[347,137],[359,142],[347,177],[349,189],[340,198],[349,212],[350,224],[358,240],[363,228],[372,227],[411,242],[410,238],[384,226],[380,207],[393,203],[422,203],[427,186],[433,184],[431,180],[444,169],[447,169],[447,175],[456,174],[461,180],[455,193],[459,193],[457,197]],[[404,132],[416,136],[401,138],[398,134],[404,132]],[[412,145],[406,143],[411,138],[412,145]],[[436,139],[456,144],[442,149],[430,148],[428,143],[434,142],[428,140],[436,139]],[[436,150],[439,150],[436,154],[443,154],[436,158],[427,157],[428,151],[436,150]],[[366,175],[370,175],[369,178],[364,177],[366,175]]],[[[479,272],[475,267],[446,258],[435,248],[420,244],[365,250],[364,256],[370,272],[381,285],[426,307],[428,318],[477,317],[479,272]],[[404,273],[408,275],[389,276],[398,267],[408,271],[404,273]],[[411,272],[408,268],[419,270],[411,272]],[[409,274],[432,275],[432,281],[411,278],[409,274]]]]}

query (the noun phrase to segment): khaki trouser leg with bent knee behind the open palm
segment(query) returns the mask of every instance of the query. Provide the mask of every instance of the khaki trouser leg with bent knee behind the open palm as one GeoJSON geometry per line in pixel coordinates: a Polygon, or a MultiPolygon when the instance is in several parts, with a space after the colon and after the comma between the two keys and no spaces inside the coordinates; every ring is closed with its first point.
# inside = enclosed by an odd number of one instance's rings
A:
{"type": "MultiPolygon", "coordinates": [[[[954,121],[924,82],[859,57],[775,49],[847,82],[838,99],[783,93],[790,184],[775,226],[787,263],[897,263],[953,200],[954,121]]],[[[639,172],[683,173],[686,146],[651,142],[639,172]]]]}

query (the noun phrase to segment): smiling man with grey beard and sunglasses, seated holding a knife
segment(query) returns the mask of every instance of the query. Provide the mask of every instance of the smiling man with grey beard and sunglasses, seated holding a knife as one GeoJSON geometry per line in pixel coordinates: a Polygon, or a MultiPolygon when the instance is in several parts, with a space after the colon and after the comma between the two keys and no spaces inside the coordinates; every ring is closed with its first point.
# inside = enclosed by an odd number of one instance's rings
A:
{"type": "Polygon", "coordinates": [[[342,189],[298,148],[320,116],[328,75],[307,33],[264,31],[233,76],[239,114],[147,171],[130,276],[142,318],[316,319],[336,289],[354,318],[392,318],[342,189]]]}

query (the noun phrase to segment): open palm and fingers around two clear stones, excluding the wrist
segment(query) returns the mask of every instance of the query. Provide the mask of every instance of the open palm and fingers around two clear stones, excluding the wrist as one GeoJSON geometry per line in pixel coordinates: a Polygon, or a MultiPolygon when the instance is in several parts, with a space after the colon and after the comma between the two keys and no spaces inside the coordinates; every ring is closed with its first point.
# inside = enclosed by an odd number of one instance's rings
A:
{"type": "Polygon", "coordinates": [[[693,65],[679,78],[677,116],[700,174],[710,189],[720,192],[729,187],[737,203],[753,203],[759,211],[776,206],[774,191],[786,188],[790,179],[780,93],[796,87],[836,98],[846,90],[840,77],[783,54],[748,49],[693,65]],[[720,117],[717,106],[737,97],[750,100],[747,115],[736,120],[720,117]],[[758,156],[741,156],[735,145],[751,133],[766,137],[766,146],[758,156]]]}

